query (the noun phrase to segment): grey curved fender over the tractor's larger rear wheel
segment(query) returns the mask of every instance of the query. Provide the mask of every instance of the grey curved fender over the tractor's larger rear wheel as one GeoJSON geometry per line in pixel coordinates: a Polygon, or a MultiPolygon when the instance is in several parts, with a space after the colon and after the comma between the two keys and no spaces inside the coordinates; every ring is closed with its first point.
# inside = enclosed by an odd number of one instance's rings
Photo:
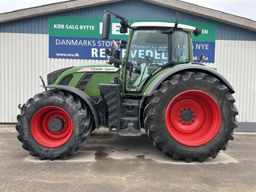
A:
{"type": "Polygon", "coordinates": [[[228,80],[224,76],[222,76],[220,73],[218,73],[217,71],[213,70],[212,68],[203,66],[203,65],[189,64],[189,65],[180,65],[180,66],[173,67],[169,70],[164,71],[161,75],[156,77],[156,79],[147,86],[148,88],[146,88],[146,91],[143,93],[143,96],[148,97],[148,96],[152,95],[156,91],[156,88],[166,78],[168,78],[171,75],[182,72],[182,71],[189,71],[189,72],[198,71],[198,72],[205,73],[207,75],[211,75],[211,76],[217,78],[221,83],[225,84],[228,87],[229,92],[231,94],[235,93],[234,88],[231,86],[231,84],[228,82],[228,80]]]}

